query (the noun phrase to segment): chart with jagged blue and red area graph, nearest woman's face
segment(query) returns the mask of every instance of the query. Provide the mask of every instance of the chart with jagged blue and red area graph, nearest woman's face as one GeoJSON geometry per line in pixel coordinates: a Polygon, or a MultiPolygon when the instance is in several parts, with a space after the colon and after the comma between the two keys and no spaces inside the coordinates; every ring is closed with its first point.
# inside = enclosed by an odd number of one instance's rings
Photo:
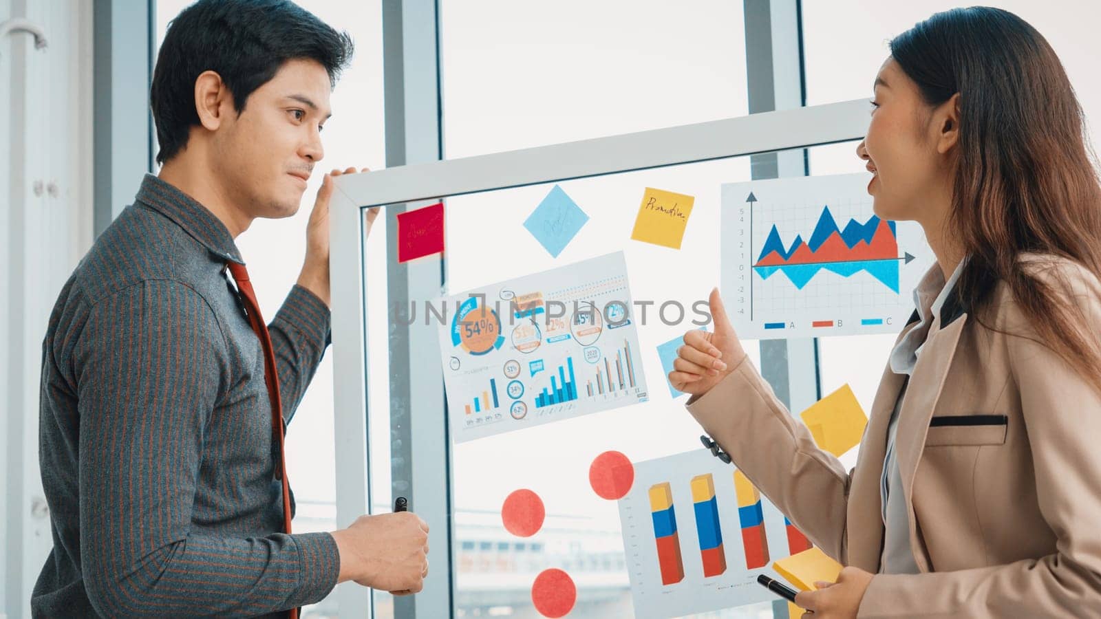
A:
{"type": "Polygon", "coordinates": [[[743,338],[896,333],[935,260],[872,210],[868,174],[722,185],[722,294],[743,338]]]}

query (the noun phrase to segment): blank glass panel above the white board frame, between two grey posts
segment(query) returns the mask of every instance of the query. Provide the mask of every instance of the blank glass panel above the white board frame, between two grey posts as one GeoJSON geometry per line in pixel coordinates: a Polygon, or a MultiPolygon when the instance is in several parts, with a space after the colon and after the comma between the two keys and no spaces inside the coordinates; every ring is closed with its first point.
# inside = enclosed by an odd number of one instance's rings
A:
{"type": "Polygon", "coordinates": [[[740,0],[439,6],[447,159],[748,113],[740,0]]]}

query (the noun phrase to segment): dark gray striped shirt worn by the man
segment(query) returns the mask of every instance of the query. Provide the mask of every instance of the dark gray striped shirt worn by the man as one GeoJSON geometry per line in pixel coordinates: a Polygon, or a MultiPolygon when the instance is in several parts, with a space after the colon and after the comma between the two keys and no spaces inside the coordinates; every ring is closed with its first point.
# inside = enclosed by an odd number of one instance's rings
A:
{"type": "MultiPolygon", "coordinates": [[[[331,535],[279,533],[263,354],[227,261],[242,262],[221,221],[145,176],[62,290],[39,445],[54,549],[33,616],[255,616],[335,586],[331,535]]],[[[269,328],[290,422],[329,311],[295,286],[269,328]]]]}

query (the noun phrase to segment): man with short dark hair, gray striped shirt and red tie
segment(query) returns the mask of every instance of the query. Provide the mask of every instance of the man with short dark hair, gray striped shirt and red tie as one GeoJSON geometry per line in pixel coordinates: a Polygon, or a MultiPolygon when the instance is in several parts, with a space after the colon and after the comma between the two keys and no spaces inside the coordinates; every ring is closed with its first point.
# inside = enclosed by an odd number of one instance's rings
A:
{"type": "Polygon", "coordinates": [[[412,513],[290,532],[284,431],[330,341],[341,172],[268,325],[233,242],[297,211],[351,51],[288,0],[200,0],[168,28],[151,89],[163,167],[66,282],[43,344],[54,549],[35,617],[294,617],[342,580],[421,589],[427,525],[412,513]]]}

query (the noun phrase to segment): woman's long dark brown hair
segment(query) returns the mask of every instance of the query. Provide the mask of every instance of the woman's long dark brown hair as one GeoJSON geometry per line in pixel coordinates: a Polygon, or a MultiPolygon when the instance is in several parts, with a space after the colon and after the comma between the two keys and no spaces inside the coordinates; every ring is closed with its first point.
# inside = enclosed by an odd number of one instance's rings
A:
{"type": "Polygon", "coordinates": [[[1058,56],[1027,22],[986,7],[937,13],[894,39],[891,54],[927,104],[960,95],[946,225],[970,257],[957,282],[962,305],[1001,330],[979,311],[1005,282],[1038,338],[1025,336],[1101,389],[1098,338],[1081,328],[1066,273],[1047,269],[1045,281],[1018,260],[1057,257],[1101,276],[1101,185],[1058,56]]]}

